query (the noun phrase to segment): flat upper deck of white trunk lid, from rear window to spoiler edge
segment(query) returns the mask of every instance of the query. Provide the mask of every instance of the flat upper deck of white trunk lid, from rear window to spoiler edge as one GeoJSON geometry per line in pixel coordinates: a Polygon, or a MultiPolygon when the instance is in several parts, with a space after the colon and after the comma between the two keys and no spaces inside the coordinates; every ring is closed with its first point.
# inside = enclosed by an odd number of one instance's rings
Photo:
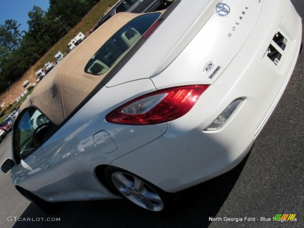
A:
{"type": "Polygon", "coordinates": [[[188,3],[188,1],[179,3],[171,12],[170,17],[166,18],[155,30],[154,35],[149,38],[148,44],[143,44],[142,48],[130,58],[106,86],[111,87],[139,78],[153,77],[175,59],[214,13],[218,2],[203,0],[196,1],[195,4],[188,3]],[[164,38],[163,34],[174,35],[164,38]],[[134,64],[136,71],[133,70],[134,64]],[[124,72],[132,72],[132,74],[128,74],[126,77],[124,72]]]}

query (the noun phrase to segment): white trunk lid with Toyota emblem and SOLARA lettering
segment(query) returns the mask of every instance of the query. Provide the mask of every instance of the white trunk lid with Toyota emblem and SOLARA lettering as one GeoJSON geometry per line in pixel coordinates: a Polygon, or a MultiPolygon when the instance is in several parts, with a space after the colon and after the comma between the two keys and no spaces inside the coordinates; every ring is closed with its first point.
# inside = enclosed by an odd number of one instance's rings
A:
{"type": "Polygon", "coordinates": [[[261,4],[261,0],[181,1],[106,86],[140,78],[151,78],[157,89],[212,84],[248,38],[261,4]]]}

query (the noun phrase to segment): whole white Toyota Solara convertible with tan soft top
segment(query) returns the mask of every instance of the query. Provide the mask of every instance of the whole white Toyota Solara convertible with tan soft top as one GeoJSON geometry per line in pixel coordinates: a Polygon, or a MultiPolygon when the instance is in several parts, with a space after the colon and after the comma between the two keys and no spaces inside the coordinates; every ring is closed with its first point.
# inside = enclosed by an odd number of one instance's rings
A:
{"type": "Polygon", "coordinates": [[[113,16],[22,104],[1,170],[43,209],[123,197],[166,214],[174,193],[250,151],[301,37],[289,0],[176,0],[113,16]]]}

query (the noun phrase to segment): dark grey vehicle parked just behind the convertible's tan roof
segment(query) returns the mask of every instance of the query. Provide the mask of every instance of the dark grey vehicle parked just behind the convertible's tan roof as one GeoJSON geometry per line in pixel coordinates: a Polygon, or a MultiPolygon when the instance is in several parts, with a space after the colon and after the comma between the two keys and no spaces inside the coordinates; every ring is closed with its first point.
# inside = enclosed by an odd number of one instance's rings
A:
{"type": "Polygon", "coordinates": [[[94,32],[104,22],[109,20],[112,16],[120,12],[131,13],[146,13],[164,7],[164,4],[169,4],[173,0],[119,0],[115,5],[109,9],[96,23],[95,27],[90,30],[90,33],[94,32]]]}

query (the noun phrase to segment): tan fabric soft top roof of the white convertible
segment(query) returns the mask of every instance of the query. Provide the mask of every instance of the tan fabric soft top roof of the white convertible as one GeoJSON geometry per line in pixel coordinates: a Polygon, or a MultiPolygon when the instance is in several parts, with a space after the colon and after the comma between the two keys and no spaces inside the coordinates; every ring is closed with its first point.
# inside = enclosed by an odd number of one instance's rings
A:
{"type": "Polygon", "coordinates": [[[137,16],[119,13],[100,26],[47,74],[22,103],[20,111],[36,106],[55,124],[62,123],[106,75],[87,74],[85,65],[117,30],[137,16]]]}

